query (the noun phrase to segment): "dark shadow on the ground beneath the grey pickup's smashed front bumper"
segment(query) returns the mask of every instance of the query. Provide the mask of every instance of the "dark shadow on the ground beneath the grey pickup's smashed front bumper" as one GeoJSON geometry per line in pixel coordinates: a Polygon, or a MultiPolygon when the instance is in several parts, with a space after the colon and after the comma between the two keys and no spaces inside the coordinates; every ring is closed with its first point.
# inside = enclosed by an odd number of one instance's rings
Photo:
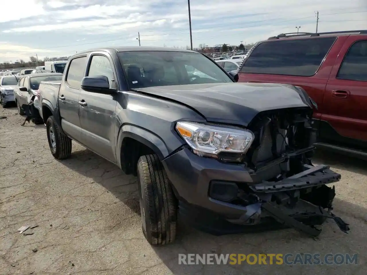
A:
{"type": "MultiPolygon", "coordinates": [[[[350,223],[350,233],[341,232],[332,220],[328,220],[322,227],[318,239],[310,238],[293,229],[256,232],[246,234],[234,234],[223,236],[212,236],[204,232],[188,228],[179,224],[180,232],[177,240],[172,245],[153,247],[156,254],[163,260],[164,264],[175,275],[184,274],[296,274],[302,273],[302,265],[182,265],[179,264],[179,253],[182,254],[270,254],[281,253],[283,255],[292,253],[320,253],[321,259],[332,251],[335,253],[350,255],[358,254],[359,259],[366,257],[367,243],[360,243],[364,239],[367,230],[366,208],[355,204],[335,199],[335,211],[347,223],[350,223]],[[359,214],[358,214],[359,213],[359,214]],[[175,257],[169,258],[172,254],[175,257]],[[168,258],[168,259],[167,259],[168,258]],[[165,260],[167,259],[167,260],[165,260]]],[[[215,260],[214,260],[215,262],[215,260]]],[[[334,265],[334,268],[336,265],[334,265]]],[[[339,265],[338,269],[326,267],[325,265],[312,266],[313,274],[357,274],[358,265],[339,265]],[[328,268],[328,269],[327,269],[328,268]],[[331,269],[331,270],[330,270],[331,269]]],[[[302,273],[303,274],[303,273],[302,273]]]]}

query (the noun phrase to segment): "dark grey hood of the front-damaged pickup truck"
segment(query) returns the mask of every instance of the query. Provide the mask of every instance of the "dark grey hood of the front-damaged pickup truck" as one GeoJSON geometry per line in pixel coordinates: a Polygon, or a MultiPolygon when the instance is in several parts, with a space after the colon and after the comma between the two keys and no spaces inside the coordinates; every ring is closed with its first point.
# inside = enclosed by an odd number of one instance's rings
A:
{"type": "Polygon", "coordinates": [[[312,108],[312,102],[304,90],[287,84],[215,83],[134,90],[190,106],[208,122],[243,126],[247,126],[262,111],[294,107],[312,108]]]}

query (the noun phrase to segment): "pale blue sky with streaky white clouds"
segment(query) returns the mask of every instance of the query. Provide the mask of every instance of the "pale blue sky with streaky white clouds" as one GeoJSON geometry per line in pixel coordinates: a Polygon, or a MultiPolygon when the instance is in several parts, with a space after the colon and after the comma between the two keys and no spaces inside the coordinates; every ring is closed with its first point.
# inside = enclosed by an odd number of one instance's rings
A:
{"type": "MultiPolygon", "coordinates": [[[[0,62],[138,46],[138,32],[142,46],[190,46],[187,0],[1,2],[0,62]]],[[[316,11],[318,32],[367,29],[367,0],[191,0],[193,47],[315,32],[316,11]]]]}

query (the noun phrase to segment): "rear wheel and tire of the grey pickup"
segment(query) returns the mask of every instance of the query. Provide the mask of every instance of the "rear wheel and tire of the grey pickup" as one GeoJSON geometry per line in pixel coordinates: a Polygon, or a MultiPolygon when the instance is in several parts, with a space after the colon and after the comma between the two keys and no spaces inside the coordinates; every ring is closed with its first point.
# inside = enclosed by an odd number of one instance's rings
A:
{"type": "Polygon", "coordinates": [[[50,146],[52,155],[57,159],[65,159],[70,157],[71,139],[65,134],[61,133],[53,115],[47,118],[46,128],[48,146],[50,146]],[[52,129],[52,136],[50,129],[52,129]],[[53,143],[55,144],[55,146],[52,145],[53,143]]]}

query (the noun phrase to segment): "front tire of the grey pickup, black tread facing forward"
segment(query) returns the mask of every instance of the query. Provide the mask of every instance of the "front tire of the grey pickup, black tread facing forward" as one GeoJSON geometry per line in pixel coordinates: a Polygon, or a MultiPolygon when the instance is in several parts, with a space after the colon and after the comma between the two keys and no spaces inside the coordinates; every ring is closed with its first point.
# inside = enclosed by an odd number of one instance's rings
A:
{"type": "Polygon", "coordinates": [[[151,245],[165,245],[176,238],[177,200],[157,155],[138,160],[138,186],[142,229],[151,245]]]}

